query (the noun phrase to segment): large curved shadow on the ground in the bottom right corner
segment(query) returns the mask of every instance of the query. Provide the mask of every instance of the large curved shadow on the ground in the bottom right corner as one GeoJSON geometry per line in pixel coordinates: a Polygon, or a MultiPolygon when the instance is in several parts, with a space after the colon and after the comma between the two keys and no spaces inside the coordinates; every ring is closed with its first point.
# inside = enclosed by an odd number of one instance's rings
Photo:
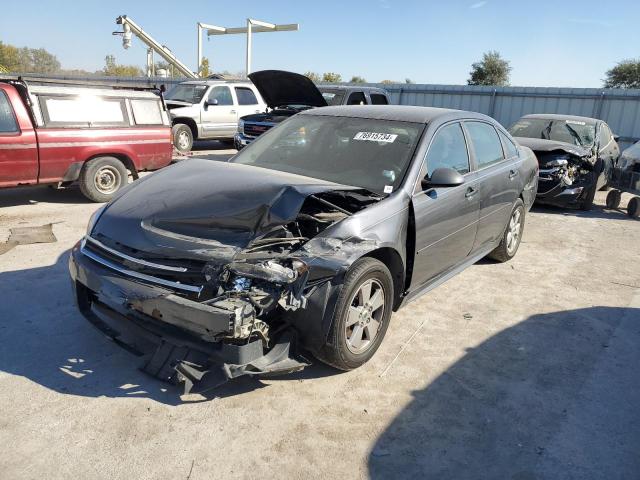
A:
{"type": "Polygon", "coordinates": [[[377,478],[637,478],[640,309],[533,315],[467,353],[377,439],[377,478]]]}

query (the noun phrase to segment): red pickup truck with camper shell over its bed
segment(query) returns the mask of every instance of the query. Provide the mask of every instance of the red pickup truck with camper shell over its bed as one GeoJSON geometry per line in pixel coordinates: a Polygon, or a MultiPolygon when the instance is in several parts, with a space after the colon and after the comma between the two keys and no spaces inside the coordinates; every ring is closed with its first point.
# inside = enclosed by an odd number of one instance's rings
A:
{"type": "Polygon", "coordinates": [[[108,201],[138,173],[171,162],[159,91],[0,79],[0,188],[75,182],[108,201]]]}

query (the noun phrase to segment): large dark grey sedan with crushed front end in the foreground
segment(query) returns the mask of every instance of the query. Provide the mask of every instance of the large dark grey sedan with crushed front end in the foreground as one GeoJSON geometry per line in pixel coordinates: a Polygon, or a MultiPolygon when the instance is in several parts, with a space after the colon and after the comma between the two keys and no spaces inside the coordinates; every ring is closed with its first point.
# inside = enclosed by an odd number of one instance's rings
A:
{"type": "Polygon", "coordinates": [[[229,163],[182,162],[92,217],[70,271],[82,313],[145,371],[209,388],[312,353],[362,365],[392,311],[484,256],[516,254],[537,163],[494,120],[327,107],[229,163]]]}

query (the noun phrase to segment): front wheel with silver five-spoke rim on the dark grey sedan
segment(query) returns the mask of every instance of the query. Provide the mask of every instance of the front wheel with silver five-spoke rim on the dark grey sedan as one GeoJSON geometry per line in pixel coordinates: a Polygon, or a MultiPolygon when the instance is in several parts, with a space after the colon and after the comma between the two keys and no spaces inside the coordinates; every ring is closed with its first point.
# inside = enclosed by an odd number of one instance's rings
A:
{"type": "Polygon", "coordinates": [[[393,279],[375,258],[361,258],[345,276],[327,344],[319,360],[340,370],[366,363],[382,343],[393,308],[393,279]]]}

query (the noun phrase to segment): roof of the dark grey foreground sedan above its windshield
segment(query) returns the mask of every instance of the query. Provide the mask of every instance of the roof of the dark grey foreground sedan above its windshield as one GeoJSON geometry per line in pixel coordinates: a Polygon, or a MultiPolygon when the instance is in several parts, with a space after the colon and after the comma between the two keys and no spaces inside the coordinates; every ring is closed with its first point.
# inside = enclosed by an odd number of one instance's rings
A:
{"type": "Polygon", "coordinates": [[[330,117],[370,118],[375,120],[393,120],[398,122],[430,123],[434,120],[455,120],[475,118],[489,120],[482,113],[452,110],[449,108],[414,107],[410,105],[344,105],[305,110],[298,115],[323,115],[330,117]]]}

